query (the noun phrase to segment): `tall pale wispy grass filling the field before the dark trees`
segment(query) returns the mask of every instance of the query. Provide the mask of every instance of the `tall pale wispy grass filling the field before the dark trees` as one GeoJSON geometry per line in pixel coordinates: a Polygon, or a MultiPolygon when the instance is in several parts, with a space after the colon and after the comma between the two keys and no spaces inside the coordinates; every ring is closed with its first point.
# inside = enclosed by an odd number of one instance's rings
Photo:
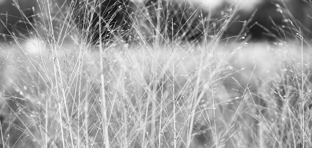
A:
{"type": "Polygon", "coordinates": [[[300,29],[278,42],[249,42],[246,26],[222,39],[235,6],[173,5],[137,3],[129,30],[99,19],[113,33],[98,30],[106,40],[95,43],[98,1],[39,1],[30,36],[0,47],[0,146],[311,147],[312,53],[300,29]]]}

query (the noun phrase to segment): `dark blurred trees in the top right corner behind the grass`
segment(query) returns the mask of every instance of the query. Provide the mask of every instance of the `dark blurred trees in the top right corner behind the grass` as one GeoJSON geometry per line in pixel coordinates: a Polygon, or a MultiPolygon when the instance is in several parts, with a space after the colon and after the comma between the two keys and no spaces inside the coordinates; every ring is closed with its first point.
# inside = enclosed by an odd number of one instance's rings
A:
{"type": "MultiPolygon", "coordinates": [[[[239,21],[249,21],[244,33],[252,40],[295,39],[300,30],[305,37],[312,37],[312,3],[305,0],[264,0],[249,13],[236,13],[239,21]],[[299,29],[300,28],[300,29],[299,29]]],[[[233,22],[228,36],[238,35],[242,22],[233,22]],[[233,28],[233,29],[232,29],[233,28]]]]}

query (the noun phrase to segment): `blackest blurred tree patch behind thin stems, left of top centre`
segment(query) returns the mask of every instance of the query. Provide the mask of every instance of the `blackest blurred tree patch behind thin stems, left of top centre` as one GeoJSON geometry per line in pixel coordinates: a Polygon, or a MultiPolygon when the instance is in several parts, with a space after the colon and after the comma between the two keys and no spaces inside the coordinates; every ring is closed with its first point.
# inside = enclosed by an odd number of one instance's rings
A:
{"type": "Polygon", "coordinates": [[[129,0],[103,1],[98,10],[91,14],[91,36],[93,42],[96,44],[100,37],[102,41],[116,38],[116,35],[124,36],[127,39],[132,24],[129,15],[134,11],[133,7],[135,7],[134,3],[129,0]]]}

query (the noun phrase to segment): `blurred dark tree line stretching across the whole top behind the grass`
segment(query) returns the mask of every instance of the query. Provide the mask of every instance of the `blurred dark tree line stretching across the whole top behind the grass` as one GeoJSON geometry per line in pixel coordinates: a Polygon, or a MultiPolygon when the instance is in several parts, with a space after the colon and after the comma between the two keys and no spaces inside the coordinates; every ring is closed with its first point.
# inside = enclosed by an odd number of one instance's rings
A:
{"type": "MultiPolygon", "coordinates": [[[[29,23],[38,13],[33,11],[33,8],[38,9],[37,1],[17,0],[16,2],[20,8],[17,8],[12,0],[4,0],[0,4],[1,39],[4,39],[5,35],[11,35],[10,32],[13,35],[27,36],[29,30],[32,29],[29,23]],[[25,16],[21,15],[20,10],[25,13],[25,16]]],[[[57,2],[59,6],[63,4],[62,0],[57,2]]],[[[235,9],[235,6],[226,2],[216,9],[198,8],[184,1],[146,0],[141,4],[130,0],[90,1],[94,4],[92,6],[84,5],[84,2],[83,0],[77,1],[75,5],[69,5],[69,7],[77,7],[75,13],[80,16],[76,19],[76,25],[80,26],[78,28],[87,23],[90,24],[89,38],[95,44],[98,43],[100,37],[102,41],[120,37],[129,40],[133,27],[133,22],[131,22],[133,19],[130,17],[141,20],[140,30],[147,39],[153,39],[155,34],[160,33],[168,39],[200,40],[203,37],[216,35],[216,30],[221,29],[220,26],[230,14],[229,8],[235,9]],[[83,13],[85,9],[90,10],[90,7],[95,10],[83,13]],[[209,19],[205,20],[205,18],[209,19]],[[101,35],[99,26],[101,26],[101,35]],[[155,29],[158,32],[155,32],[155,29]]],[[[252,40],[295,38],[300,28],[305,37],[310,39],[312,37],[311,16],[310,1],[263,0],[254,11],[237,11],[233,16],[235,19],[227,26],[222,38],[237,35],[250,37],[252,40]],[[244,24],[244,21],[248,24],[244,24]]]]}

